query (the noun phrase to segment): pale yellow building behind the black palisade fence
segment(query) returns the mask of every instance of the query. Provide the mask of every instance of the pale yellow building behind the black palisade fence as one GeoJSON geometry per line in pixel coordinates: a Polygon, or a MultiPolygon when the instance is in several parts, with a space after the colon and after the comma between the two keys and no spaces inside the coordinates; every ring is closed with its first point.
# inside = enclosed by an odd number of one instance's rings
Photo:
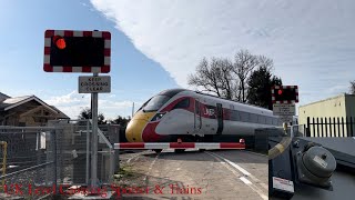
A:
{"type": "MultiPolygon", "coordinates": [[[[310,104],[300,106],[298,108],[298,122],[300,124],[307,124],[307,118],[313,122],[313,118],[315,120],[315,123],[329,123],[329,119],[332,120],[332,123],[334,123],[334,119],[337,123],[337,119],[339,119],[339,122],[342,123],[342,119],[344,122],[349,121],[349,117],[353,117],[353,123],[355,123],[355,96],[343,93],[333,98],[324,99],[321,101],[316,101],[310,104]],[[318,118],[318,122],[316,122],[316,118],[318,118]],[[322,121],[321,121],[322,120],[322,121]]],[[[316,126],[316,124],[315,124],[316,126]]],[[[344,134],[346,137],[346,130],[349,129],[349,124],[346,127],[344,126],[344,134]]],[[[316,127],[315,127],[316,128],[316,127]]],[[[321,129],[322,127],[320,127],[321,129]]],[[[331,126],[323,126],[323,129],[327,129],[327,132],[333,131],[334,127],[332,127],[332,130],[329,130],[331,126]]],[[[352,127],[353,128],[353,127],[352,127]]],[[[313,129],[313,128],[312,128],[313,129]]],[[[343,129],[343,127],[341,128],[343,129]]],[[[311,130],[312,132],[313,130],[311,130]]],[[[325,130],[324,130],[325,131],[325,130]]],[[[355,131],[355,130],[354,130],[355,131]]],[[[318,131],[320,132],[320,131],[318,131]]],[[[335,131],[334,136],[337,136],[338,130],[335,131]]],[[[312,133],[311,133],[312,134],[312,133]]]]}

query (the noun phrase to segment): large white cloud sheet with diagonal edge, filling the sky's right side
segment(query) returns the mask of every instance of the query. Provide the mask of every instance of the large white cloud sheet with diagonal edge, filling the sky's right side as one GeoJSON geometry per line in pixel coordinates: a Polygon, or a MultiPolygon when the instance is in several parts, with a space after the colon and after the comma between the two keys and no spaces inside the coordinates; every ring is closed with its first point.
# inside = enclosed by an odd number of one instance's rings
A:
{"type": "Polygon", "coordinates": [[[344,92],[354,79],[352,0],[91,2],[182,87],[202,57],[232,58],[244,48],[273,58],[284,84],[317,91],[301,102],[344,92]]]}

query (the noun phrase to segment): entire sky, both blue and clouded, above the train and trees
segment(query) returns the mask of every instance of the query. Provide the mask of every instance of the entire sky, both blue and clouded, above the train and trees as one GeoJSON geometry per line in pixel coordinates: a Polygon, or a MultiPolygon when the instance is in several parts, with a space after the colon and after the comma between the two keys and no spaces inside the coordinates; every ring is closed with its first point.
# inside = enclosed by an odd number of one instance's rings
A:
{"type": "Polygon", "coordinates": [[[352,0],[1,0],[0,91],[36,94],[75,117],[90,96],[77,92],[80,73],[43,72],[43,33],[98,29],[112,34],[112,92],[99,108],[108,117],[189,88],[201,58],[240,49],[272,58],[305,104],[347,92],[355,79],[354,10],[352,0]]]}

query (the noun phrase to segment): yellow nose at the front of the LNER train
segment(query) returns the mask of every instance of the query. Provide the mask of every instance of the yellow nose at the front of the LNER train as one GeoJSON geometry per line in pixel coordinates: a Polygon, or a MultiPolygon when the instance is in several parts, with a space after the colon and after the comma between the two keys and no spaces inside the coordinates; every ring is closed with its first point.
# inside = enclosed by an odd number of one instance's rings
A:
{"type": "Polygon", "coordinates": [[[142,132],[148,121],[142,119],[132,119],[126,126],[125,138],[129,142],[143,142],[142,132]]]}

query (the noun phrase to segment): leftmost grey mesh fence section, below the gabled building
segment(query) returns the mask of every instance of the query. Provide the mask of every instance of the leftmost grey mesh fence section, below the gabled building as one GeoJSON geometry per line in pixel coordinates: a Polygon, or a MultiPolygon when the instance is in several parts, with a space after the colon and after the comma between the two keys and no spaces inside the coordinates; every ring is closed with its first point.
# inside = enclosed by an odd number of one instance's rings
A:
{"type": "Polygon", "coordinates": [[[0,127],[1,192],[28,199],[48,194],[42,189],[51,188],[55,179],[55,131],[54,128],[0,127]]]}

